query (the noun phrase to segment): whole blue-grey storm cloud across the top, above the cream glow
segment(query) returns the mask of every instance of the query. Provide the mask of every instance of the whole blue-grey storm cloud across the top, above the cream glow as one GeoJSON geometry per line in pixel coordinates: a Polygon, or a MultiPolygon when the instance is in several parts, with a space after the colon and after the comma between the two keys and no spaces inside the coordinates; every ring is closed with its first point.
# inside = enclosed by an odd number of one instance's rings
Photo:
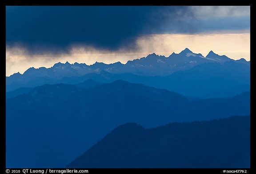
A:
{"type": "Polygon", "coordinates": [[[248,9],[212,6],[19,6],[6,8],[6,43],[30,51],[69,46],[135,49],[138,36],[250,27],[248,9]],[[230,16],[231,14],[231,16],[230,16]]]}

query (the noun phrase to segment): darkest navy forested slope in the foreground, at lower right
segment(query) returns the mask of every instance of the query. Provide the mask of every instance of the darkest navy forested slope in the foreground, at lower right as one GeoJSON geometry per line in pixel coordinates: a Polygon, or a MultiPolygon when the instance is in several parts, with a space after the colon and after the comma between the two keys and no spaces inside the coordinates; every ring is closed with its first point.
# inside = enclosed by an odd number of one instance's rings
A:
{"type": "Polygon", "coordinates": [[[250,168],[250,117],[121,125],[68,168],[250,168]]]}

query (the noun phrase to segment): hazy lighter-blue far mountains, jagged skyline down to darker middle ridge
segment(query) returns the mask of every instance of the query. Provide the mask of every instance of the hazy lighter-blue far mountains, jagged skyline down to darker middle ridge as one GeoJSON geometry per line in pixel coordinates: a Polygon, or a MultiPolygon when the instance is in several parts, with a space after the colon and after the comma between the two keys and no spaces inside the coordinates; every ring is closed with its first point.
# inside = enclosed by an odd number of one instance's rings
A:
{"type": "Polygon", "coordinates": [[[250,62],[243,58],[235,61],[212,51],[204,57],[202,54],[192,53],[188,48],[180,54],[172,53],[168,58],[149,54],[146,58],[128,61],[126,64],[116,62],[108,65],[96,62],[88,66],[84,63],[59,62],[51,68],[30,68],[23,74],[15,73],[6,77],[6,92],[44,84],[74,85],[88,79],[101,83],[122,79],[188,96],[205,96],[216,90],[236,89],[243,85],[247,85],[248,90],[250,62]]]}

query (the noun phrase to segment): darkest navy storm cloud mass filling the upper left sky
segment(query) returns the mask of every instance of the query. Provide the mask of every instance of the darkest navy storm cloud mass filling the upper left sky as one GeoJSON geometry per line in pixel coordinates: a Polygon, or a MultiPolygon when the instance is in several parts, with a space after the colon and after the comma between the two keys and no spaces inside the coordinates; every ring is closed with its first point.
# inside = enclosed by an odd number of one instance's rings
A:
{"type": "Polygon", "coordinates": [[[57,48],[88,44],[112,50],[133,42],[157,8],[7,7],[6,42],[57,48]]]}

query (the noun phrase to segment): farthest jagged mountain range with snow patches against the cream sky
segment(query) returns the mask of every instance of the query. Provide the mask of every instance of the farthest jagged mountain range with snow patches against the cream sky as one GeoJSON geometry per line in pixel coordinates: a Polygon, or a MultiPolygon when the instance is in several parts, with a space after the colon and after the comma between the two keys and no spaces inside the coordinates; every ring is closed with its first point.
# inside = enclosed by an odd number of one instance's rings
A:
{"type": "MultiPolygon", "coordinates": [[[[25,71],[23,75],[29,77],[47,77],[51,79],[60,79],[62,77],[82,76],[88,73],[100,73],[104,70],[108,73],[133,73],[143,76],[163,76],[170,75],[180,70],[188,70],[194,66],[205,62],[224,63],[229,61],[232,61],[232,59],[228,58],[225,55],[220,56],[218,54],[215,54],[212,50],[208,53],[206,57],[204,57],[200,53],[193,53],[188,48],[185,48],[179,54],[173,52],[169,57],[152,53],[148,54],[148,56],[146,57],[128,61],[125,64],[122,64],[121,62],[115,62],[111,64],[106,64],[104,62],[95,62],[94,64],[88,66],[85,63],[75,62],[74,64],[70,64],[69,62],[58,62],[54,64],[51,68],[30,68],[25,71]]],[[[248,65],[250,63],[245,62],[244,59],[234,62],[244,63],[248,65]]]]}

